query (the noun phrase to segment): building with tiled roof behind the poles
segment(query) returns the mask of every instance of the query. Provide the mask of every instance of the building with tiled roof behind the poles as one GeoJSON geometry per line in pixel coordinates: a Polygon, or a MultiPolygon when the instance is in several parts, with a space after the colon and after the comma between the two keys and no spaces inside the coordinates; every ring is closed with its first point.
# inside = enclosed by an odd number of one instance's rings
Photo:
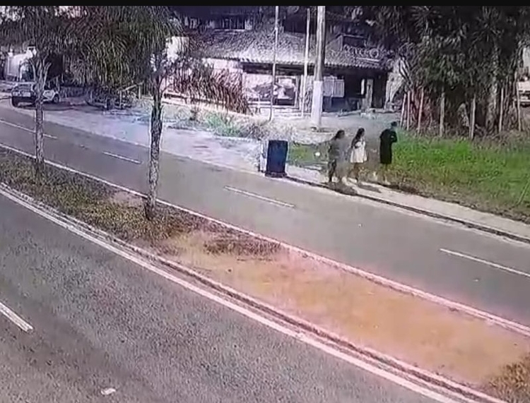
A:
{"type": "MultiPolygon", "coordinates": [[[[240,73],[251,102],[270,103],[274,59],[273,9],[266,6],[217,6],[201,10],[180,7],[184,26],[196,35],[202,54],[216,68],[240,73]],[[190,11],[186,11],[189,9],[190,11]]],[[[310,49],[304,100],[306,16],[304,6],[281,6],[274,104],[307,110],[312,98],[316,47],[316,13],[311,13],[310,49]]],[[[328,8],[324,69],[324,109],[383,107],[392,62],[387,52],[367,44],[363,29],[351,16],[328,8]]]]}

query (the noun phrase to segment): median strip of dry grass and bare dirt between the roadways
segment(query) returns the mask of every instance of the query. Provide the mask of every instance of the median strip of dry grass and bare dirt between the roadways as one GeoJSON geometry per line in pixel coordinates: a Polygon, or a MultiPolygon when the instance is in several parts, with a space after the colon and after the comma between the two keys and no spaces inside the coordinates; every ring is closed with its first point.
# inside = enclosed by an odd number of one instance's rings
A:
{"type": "Polygon", "coordinates": [[[354,343],[510,402],[530,398],[526,337],[181,210],[160,207],[146,222],[140,198],[100,182],[54,167],[37,181],[32,172],[30,159],[0,149],[0,180],[62,212],[354,343]]]}

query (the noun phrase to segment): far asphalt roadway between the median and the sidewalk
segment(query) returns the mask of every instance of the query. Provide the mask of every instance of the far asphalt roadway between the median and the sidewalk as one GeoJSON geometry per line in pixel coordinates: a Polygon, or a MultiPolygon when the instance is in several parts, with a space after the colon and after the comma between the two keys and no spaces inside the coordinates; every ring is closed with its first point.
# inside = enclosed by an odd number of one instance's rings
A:
{"type": "MultiPolygon", "coordinates": [[[[0,119],[0,143],[33,153],[32,134],[5,124],[33,128],[32,117],[0,108],[0,119]]],[[[146,148],[56,124],[45,131],[49,160],[146,191],[146,148]]],[[[171,203],[530,325],[529,246],[167,153],[159,189],[171,203]]]]}

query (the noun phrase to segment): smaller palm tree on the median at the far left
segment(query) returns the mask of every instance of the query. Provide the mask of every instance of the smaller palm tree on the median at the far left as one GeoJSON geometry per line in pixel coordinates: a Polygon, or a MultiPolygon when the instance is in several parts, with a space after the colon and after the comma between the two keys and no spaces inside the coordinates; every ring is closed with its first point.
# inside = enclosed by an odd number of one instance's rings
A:
{"type": "Polygon", "coordinates": [[[5,6],[0,21],[0,40],[4,44],[28,44],[35,51],[30,66],[35,79],[35,173],[44,168],[42,102],[49,71],[49,59],[67,46],[70,32],[60,6],[5,6]]]}

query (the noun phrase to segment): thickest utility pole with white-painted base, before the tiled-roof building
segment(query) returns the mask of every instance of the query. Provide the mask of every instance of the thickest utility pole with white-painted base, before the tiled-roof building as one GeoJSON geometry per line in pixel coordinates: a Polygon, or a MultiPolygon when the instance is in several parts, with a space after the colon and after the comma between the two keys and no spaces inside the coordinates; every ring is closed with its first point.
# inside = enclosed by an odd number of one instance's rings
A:
{"type": "Polygon", "coordinates": [[[317,54],[314,61],[312,126],[322,126],[322,102],[324,101],[324,60],[326,55],[326,6],[317,6],[317,54]]]}

